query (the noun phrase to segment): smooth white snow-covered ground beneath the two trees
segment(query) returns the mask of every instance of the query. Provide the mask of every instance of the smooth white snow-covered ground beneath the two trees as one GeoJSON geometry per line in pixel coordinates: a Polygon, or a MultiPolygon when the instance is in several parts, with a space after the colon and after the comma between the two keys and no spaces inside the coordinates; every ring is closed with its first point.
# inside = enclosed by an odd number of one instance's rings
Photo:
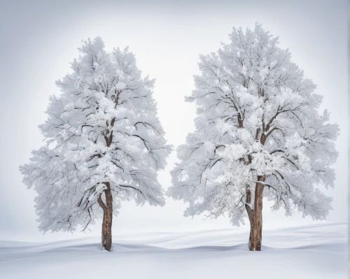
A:
{"type": "Polygon", "coordinates": [[[245,229],[118,235],[51,243],[0,241],[0,278],[348,278],[348,224],[265,230],[249,252],[245,229]]]}

